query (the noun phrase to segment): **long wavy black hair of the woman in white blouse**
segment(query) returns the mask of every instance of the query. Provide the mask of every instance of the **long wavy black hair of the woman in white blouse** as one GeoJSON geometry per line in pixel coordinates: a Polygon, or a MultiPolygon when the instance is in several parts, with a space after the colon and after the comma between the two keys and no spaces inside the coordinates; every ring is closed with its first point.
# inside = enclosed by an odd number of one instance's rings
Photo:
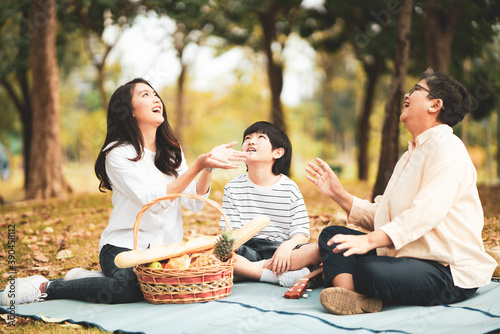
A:
{"type": "MultiPolygon", "coordinates": [[[[148,81],[136,78],[118,87],[109,100],[106,139],[94,166],[96,176],[100,181],[99,190],[102,192],[112,190],[105,165],[108,152],[117,146],[130,144],[137,152],[137,157],[131,159],[132,161],[139,161],[144,152],[142,133],[137,121],[132,116],[132,94],[138,83],[144,83],[154,90],[148,81]],[[107,147],[110,143],[113,144],[107,147]]],[[[165,121],[156,130],[155,165],[163,173],[177,177],[177,168],[182,161],[181,148],[168,123],[165,105],[161,98],[160,101],[165,121]]]]}

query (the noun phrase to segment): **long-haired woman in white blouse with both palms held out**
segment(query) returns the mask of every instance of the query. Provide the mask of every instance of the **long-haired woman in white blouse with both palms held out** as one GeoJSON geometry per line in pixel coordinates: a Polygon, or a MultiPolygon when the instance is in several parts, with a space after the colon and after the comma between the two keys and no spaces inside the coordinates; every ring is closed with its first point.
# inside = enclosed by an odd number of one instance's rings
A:
{"type": "MultiPolygon", "coordinates": [[[[11,297],[2,294],[2,305],[9,305],[11,300],[16,304],[47,299],[97,303],[141,300],[133,269],[120,269],[114,263],[117,254],[133,248],[132,229],[139,211],[171,193],[208,196],[213,168],[237,168],[235,161],[244,161],[247,155],[231,149],[236,144],[233,142],[200,155],[188,168],[162,100],[143,79],[132,80],[115,91],[107,122],[106,139],[95,164],[100,190],[113,191],[113,210],[100,240],[99,261],[104,274],[83,271],[73,279],[52,282],[42,276],[20,278],[9,284],[15,288],[11,297]]],[[[138,249],[182,241],[180,205],[198,211],[203,203],[177,198],[151,207],[141,219],[138,249]]]]}

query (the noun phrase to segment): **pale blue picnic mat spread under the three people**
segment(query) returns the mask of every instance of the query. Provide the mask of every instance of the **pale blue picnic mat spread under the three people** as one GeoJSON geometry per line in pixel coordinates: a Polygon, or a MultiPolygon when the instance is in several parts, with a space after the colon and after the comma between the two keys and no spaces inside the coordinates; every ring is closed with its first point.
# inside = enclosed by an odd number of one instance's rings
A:
{"type": "MultiPolygon", "coordinates": [[[[138,302],[103,305],[52,300],[16,305],[20,316],[67,319],[124,333],[488,333],[500,329],[500,282],[452,305],[384,306],[351,316],[327,313],[321,289],[307,298],[285,299],[286,289],[256,282],[235,283],[231,295],[195,304],[138,302]]],[[[8,313],[5,307],[0,310],[8,313]]]]}

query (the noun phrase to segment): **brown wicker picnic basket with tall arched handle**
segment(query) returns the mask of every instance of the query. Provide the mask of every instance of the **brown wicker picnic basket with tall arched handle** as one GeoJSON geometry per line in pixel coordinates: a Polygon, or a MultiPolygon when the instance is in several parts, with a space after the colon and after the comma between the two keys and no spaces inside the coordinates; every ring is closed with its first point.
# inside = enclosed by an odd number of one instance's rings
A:
{"type": "MultiPolygon", "coordinates": [[[[232,229],[231,222],[217,202],[194,194],[170,194],[146,204],[137,215],[134,224],[134,250],[137,249],[140,220],[146,210],[161,201],[174,200],[178,197],[205,201],[224,217],[226,229],[232,229]]],[[[150,303],[197,303],[229,296],[233,287],[234,261],[234,257],[231,257],[227,262],[217,265],[187,269],[156,269],[149,268],[148,264],[141,264],[134,267],[134,272],[144,299],[150,303]]]]}

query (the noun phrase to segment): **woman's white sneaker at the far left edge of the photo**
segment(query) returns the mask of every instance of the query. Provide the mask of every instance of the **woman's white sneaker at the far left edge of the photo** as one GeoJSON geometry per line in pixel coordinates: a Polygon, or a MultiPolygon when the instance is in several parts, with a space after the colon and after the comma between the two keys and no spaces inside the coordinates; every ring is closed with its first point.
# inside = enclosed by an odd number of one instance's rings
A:
{"type": "Polygon", "coordinates": [[[8,282],[2,292],[2,306],[12,305],[12,301],[15,305],[43,301],[47,294],[40,291],[40,284],[48,281],[43,276],[35,275],[8,282]]]}

